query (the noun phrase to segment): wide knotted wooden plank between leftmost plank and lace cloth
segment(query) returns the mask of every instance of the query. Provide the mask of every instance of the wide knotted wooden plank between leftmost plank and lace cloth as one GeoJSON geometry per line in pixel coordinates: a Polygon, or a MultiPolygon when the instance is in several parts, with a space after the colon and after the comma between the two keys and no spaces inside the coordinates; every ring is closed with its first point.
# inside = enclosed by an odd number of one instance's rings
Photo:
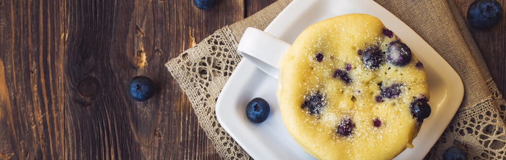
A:
{"type": "Polygon", "coordinates": [[[242,19],[242,2],[220,1],[209,11],[191,1],[68,3],[66,158],[219,158],[163,64],[190,46],[190,33],[198,42],[242,19]],[[159,87],[146,102],[128,96],[136,75],[159,87]]]}

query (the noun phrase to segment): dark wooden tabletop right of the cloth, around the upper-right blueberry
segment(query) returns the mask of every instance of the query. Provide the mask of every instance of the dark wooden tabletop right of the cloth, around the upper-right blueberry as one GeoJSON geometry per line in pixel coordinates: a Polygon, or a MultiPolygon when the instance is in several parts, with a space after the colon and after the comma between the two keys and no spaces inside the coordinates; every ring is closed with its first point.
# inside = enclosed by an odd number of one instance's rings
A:
{"type": "MultiPolygon", "coordinates": [[[[466,20],[468,8],[473,0],[454,0],[455,5],[466,20]]],[[[502,5],[502,19],[491,29],[478,30],[469,27],[490,76],[501,93],[506,93],[506,0],[498,0],[502,5]]],[[[467,20],[466,20],[467,21],[467,20]]],[[[469,25],[468,25],[469,26],[469,25]]],[[[502,96],[504,98],[504,95],[502,96]]]]}

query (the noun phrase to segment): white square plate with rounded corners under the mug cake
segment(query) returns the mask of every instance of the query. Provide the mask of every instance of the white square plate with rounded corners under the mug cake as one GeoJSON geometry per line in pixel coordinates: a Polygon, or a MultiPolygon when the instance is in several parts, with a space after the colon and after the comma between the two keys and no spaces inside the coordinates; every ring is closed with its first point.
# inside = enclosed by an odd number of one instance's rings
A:
{"type": "MultiPolygon", "coordinates": [[[[418,34],[382,6],[371,0],[295,0],[265,29],[288,43],[309,25],[350,13],[363,13],[382,20],[411,48],[427,72],[432,114],[424,122],[413,148],[396,159],[423,158],[453,118],[463,97],[460,77],[418,34]]],[[[286,130],[275,96],[276,79],[241,61],[225,84],[216,106],[221,126],[255,159],[314,159],[304,152],[286,130]],[[260,124],[245,116],[249,100],[262,97],[271,105],[269,118],[260,124]]]]}

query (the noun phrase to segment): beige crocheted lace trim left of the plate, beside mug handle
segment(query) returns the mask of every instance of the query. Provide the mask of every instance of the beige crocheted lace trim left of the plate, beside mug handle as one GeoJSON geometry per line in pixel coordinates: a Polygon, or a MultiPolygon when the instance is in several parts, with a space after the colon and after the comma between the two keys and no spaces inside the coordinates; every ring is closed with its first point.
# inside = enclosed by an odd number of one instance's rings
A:
{"type": "Polygon", "coordinates": [[[192,103],[198,122],[223,159],[249,159],[216,119],[216,99],[241,60],[228,26],[217,30],[165,66],[192,103]]]}

